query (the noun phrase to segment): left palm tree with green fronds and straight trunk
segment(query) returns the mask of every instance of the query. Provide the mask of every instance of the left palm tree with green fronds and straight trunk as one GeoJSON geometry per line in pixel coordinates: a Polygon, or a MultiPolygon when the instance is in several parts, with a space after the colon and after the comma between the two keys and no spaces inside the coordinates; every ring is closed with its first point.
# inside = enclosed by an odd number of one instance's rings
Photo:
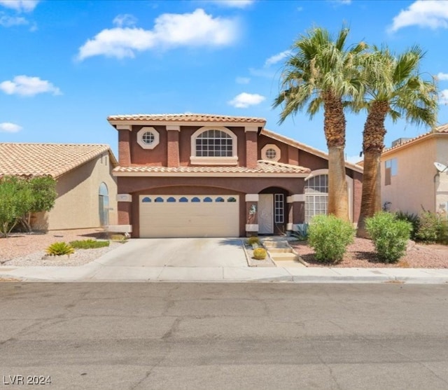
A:
{"type": "MultiPolygon", "coordinates": [[[[349,29],[343,27],[335,40],[328,30],[315,27],[293,43],[281,75],[281,92],[273,106],[283,106],[279,123],[305,107],[312,118],[323,106],[323,130],[328,146],[328,214],[349,219],[345,180],[345,116],[347,98],[360,96],[355,57],[365,43],[346,49],[349,29]]],[[[361,94],[362,96],[362,94],[361,94]]]]}

